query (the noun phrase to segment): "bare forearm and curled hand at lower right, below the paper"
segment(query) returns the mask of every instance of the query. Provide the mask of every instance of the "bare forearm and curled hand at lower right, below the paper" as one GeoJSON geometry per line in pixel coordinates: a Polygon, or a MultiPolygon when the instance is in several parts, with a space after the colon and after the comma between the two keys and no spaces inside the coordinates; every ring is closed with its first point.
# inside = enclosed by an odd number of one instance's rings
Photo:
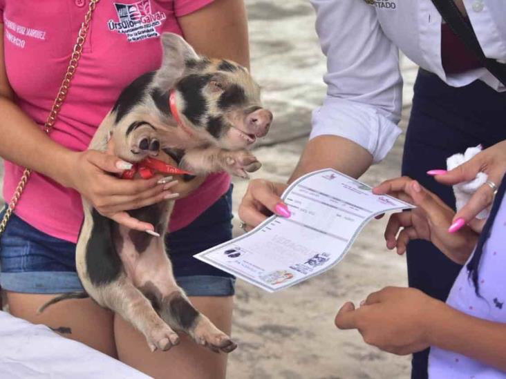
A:
{"type": "Polygon", "coordinates": [[[339,329],[357,329],[368,344],[397,355],[429,346],[506,371],[506,324],[475,318],[413,288],[386,287],[355,309],[339,309],[339,329]]]}

